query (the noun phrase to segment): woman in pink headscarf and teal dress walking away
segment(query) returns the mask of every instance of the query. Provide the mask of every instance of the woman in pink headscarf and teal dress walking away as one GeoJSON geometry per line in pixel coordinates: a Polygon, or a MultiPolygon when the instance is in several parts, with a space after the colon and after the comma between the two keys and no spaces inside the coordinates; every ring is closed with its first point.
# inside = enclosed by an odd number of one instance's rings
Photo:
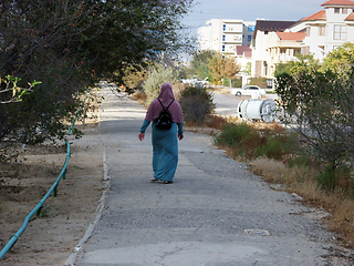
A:
{"type": "Polygon", "coordinates": [[[163,181],[171,184],[178,163],[178,143],[184,139],[184,116],[179,103],[175,100],[173,86],[169,83],[162,85],[158,98],[154,99],[147,109],[146,116],[140,127],[138,139],[145,137],[145,130],[152,124],[153,129],[153,170],[154,177],[150,181],[163,181]],[[170,104],[170,105],[169,105],[170,104]],[[156,119],[164,108],[168,108],[173,124],[169,130],[156,127],[156,119]]]}

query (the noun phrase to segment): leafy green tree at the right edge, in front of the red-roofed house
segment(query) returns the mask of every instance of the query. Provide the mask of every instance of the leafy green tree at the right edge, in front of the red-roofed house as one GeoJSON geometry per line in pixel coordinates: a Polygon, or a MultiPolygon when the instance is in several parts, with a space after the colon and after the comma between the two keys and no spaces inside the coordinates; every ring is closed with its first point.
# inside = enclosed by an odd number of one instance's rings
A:
{"type": "Polygon", "coordinates": [[[291,124],[311,155],[326,162],[332,177],[354,155],[354,68],[345,75],[321,69],[312,57],[277,68],[275,91],[285,124],[291,124]]]}

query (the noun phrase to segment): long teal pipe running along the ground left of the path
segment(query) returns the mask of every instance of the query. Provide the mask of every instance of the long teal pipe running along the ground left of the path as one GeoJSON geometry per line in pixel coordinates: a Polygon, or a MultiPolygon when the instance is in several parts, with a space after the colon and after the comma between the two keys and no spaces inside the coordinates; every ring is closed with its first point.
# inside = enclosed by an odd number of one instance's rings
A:
{"type": "MultiPolygon", "coordinates": [[[[73,133],[73,126],[76,122],[76,119],[86,101],[88,96],[88,93],[86,94],[82,105],[80,106],[80,109],[77,110],[77,113],[70,126],[70,130],[69,130],[69,135],[71,135],[73,133]]],[[[1,249],[0,252],[0,260],[2,259],[2,257],[13,247],[13,245],[17,243],[17,241],[19,239],[19,237],[21,236],[21,234],[25,231],[30,219],[32,218],[32,216],[34,214],[37,214],[37,216],[40,215],[41,213],[41,209],[43,208],[43,204],[44,202],[46,201],[46,198],[53,193],[53,196],[55,197],[56,196],[56,191],[58,191],[58,185],[59,185],[59,182],[60,180],[63,177],[63,180],[65,180],[65,172],[66,172],[66,167],[67,167],[67,163],[69,163],[69,158],[70,158],[70,143],[69,141],[65,141],[66,143],[66,158],[65,158],[65,163],[64,163],[64,166],[60,173],[60,175],[58,176],[56,181],[53,183],[52,187],[46,192],[46,194],[44,195],[44,197],[37,204],[37,206],[29,213],[29,215],[24,218],[24,222],[21,226],[21,228],[14,234],[11,236],[10,241],[8,242],[8,244],[1,249]]]]}

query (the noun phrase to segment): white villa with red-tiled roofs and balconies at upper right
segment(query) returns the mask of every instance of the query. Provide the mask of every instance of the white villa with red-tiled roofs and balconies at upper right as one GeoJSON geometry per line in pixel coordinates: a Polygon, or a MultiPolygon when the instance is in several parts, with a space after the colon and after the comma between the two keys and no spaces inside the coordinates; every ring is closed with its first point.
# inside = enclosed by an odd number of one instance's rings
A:
{"type": "Polygon", "coordinates": [[[252,76],[273,79],[277,64],[313,54],[323,60],[333,49],[354,42],[354,1],[329,0],[324,10],[294,21],[258,20],[251,43],[252,76]]]}

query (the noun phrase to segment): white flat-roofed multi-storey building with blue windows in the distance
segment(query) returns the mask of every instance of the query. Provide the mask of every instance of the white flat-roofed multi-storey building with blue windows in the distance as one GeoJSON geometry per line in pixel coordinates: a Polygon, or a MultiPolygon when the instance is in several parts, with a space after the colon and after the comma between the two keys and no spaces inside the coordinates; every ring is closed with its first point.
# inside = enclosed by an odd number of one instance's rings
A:
{"type": "Polygon", "coordinates": [[[236,54],[238,45],[250,45],[256,22],[211,19],[198,28],[199,50],[214,50],[222,54],[236,54]]]}

